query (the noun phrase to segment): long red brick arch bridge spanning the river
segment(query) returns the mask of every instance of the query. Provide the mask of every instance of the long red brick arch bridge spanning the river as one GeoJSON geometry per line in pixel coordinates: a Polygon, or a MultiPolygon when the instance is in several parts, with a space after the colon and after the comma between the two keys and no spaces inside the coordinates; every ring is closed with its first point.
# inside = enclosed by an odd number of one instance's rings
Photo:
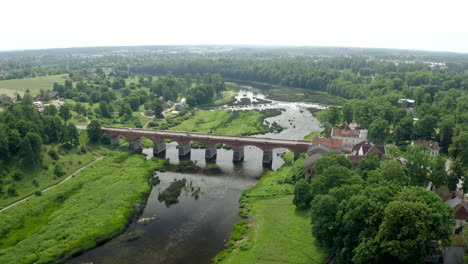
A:
{"type": "Polygon", "coordinates": [[[272,150],[275,148],[286,148],[296,154],[299,154],[300,152],[307,152],[307,149],[312,144],[311,141],[307,140],[226,136],[206,133],[122,127],[103,127],[102,132],[109,136],[112,145],[119,143],[120,136],[126,137],[130,142],[130,148],[135,151],[141,149],[142,138],[146,137],[154,142],[153,151],[155,154],[164,153],[166,150],[166,143],[164,141],[165,139],[171,139],[179,144],[179,156],[186,156],[190,154],[190,142],[199,142],[206,147],[205,158],[208,160],[216,159],[216,144],[225,144],[231,146],[234,151],[234,162],[240,162],[244,160],[245,146],[255,146],[263,150],[262,160],[265,164],[271,163],[273,159],[272,150]]]}

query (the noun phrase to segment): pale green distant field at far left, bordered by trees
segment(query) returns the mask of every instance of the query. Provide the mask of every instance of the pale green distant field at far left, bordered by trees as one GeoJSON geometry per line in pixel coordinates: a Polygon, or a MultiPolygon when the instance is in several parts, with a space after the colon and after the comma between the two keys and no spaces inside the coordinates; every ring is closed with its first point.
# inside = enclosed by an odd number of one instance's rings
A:
{"type": "Polygon", "coordinates": [[[0,81],[0,94],[4,93],[9,96],[13,96],[15,93],[19,93],[20,95],[23,95],[24,92],[29,89],[33,96],[38,95],[41,89],[44,89],[44,91],[52,91],[54,82],[63,83],[65,81],[65,77],[66,74],[2,80],[0,81]]]}

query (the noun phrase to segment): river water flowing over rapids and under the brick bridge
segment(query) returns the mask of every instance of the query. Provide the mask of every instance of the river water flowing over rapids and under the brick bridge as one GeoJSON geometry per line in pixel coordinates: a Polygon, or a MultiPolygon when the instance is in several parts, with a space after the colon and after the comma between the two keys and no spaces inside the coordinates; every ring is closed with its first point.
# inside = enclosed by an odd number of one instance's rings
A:
{"type": "MultiPolygon", "coordinates": [[[[258,91],[241,90],[238,99],[249,97],[264,99],[258,91]]],[[[309,103],[273,101],[269,104],[224,109],[284,109],[281,115],[268,118],[285,127],[280,133],[256,135],[285,139],[302,139],[312,131],[320,130],[320,123],[313,118],[309,103]]],[[[177,144],[167,145],[166,158],[171,164],[179,163],[177,144]]],[[[282,166],[279,154],[285,149],[275,149],[271,169],[282,166]]],[[[152,149],[143,153],[152,157],[152,149]]],[[[203,149],[192,149],[190,159],[201,167],[206,166],[203,149]]],[[[232,163],[232,151],[218,149],[216,165],[212,173],[158,172],[161,183],[154,187],[148,197],[140,221],[132,223],[125,233],[108,243],[75,257],[68,263],[210,263],[211,259],[225,248],[233,224],[240,220],[238,199],[243,190],[255,185],[267,170],[262,166],[262,151],[256,147],[245,148],[245,160],[232,163]],[[185,179],[177,202],[167,203],[158,199],[162,191],[176,180],[185,179]],[[131,240],[129,234],[138,234],[131,240]],[[130,241],[129,241],[130,240],[130,241]]]]}

